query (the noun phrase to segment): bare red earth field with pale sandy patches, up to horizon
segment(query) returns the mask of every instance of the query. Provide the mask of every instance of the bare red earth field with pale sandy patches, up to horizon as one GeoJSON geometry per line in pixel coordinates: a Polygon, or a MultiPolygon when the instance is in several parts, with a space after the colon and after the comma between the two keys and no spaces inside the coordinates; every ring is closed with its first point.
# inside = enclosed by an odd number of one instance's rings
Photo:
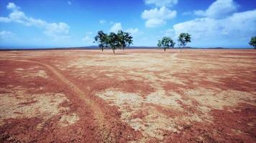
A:
{"type": "Polygon", "coordinates": [[[256,142],[256,51],[0,51],[0,142],[256,142]]]}

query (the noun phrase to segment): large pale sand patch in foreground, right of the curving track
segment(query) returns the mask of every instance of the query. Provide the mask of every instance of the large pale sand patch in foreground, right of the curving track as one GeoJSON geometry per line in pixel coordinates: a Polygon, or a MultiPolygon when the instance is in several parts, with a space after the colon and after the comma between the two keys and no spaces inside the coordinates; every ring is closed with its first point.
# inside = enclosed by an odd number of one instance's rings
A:
{"type": "Polygon", "coordinates": [[[178,122],[201,122],[202,119],[198,115],[189,115],[184,117],[168,117],[163,113],[160,113],[147,104],[156,104],[157,106],[173,109],[177,111],[182,109],[177,100],[181,100],[181,97],[177,93],[165,94],[165,91],[159,90],[142,98],[139,94],[124,93],[116,89],[108,89],[105,92],[99,92],[96,96],[106,100],[109,104],[119,107],[119,111],[122,112],[121,119],[127,122],[133,129],[142,132],[143,138],[141,142],[145,142],[147,138],[157,138],[163,140],[163,134],[165,130],[170,132],[178,132],[182,129],[178,125],[178,122]],[[144,117],[136,117],[136,114],[144,112],[144,117]]]}

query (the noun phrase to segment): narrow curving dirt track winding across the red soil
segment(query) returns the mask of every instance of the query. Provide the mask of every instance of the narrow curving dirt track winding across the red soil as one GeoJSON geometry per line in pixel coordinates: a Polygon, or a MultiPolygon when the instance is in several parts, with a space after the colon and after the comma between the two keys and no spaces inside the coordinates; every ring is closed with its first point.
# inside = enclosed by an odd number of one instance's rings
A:
{"type": "Polygon", "coordinates": [[[90,99],[90,97],[86,96],[86,93],[83,92],[76,84],[71,82],[69,79],[67,79],[63,74],[61,74],[59,71],[57,71],[54,67],[50,66],[49,64],[44,64],[39,61],[29,61],[29,60],[11,60],[11,61],[21,61],[21,62],[30,62],[35,64],[40,64],[42,66],[45,66],[47,69],[50,69],[53,74],[55,74],[58,79],[60,79],[62,82],[64,82],[68,87],[75,92],[76,96],[81,99],[85,104],[88,104],[91,107],[91,110],[93,111],[94,119],[96,119],[96,123],[99,127],[99,132],[101,134],[101,142],[115,142],[114,135],[111,132],[111,129],[109,129],[109,122],[107,122],[104,119],[104,112],[101,110],[100,105],[95,102],[93,99],[90,99]]]}

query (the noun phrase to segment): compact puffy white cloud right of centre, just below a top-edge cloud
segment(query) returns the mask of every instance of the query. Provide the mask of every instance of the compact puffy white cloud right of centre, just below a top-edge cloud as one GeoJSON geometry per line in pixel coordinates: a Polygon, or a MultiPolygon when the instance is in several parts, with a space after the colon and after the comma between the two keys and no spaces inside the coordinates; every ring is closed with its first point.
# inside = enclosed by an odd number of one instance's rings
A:
{"type": "Polygon", "coordinates": [[[142,12],[142,19],[146,20],[146,27],[157,27],[166,24],[169,19],[175,18],[177,12],[171,11],[165,6],[160,9],[150,9],[142,12]]]}

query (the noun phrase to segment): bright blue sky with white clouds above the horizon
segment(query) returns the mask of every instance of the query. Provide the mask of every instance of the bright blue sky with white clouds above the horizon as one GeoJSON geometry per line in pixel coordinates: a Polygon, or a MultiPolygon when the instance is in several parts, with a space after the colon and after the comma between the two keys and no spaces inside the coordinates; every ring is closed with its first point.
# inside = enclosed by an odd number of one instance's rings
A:
{"type": "Polygon", "coordinates": [[[188,46],[250,47],[256,0],[0,0],[0,48],[91,46],[99,30],[127,31],[133,46],[188,32],[188,46]]]}

